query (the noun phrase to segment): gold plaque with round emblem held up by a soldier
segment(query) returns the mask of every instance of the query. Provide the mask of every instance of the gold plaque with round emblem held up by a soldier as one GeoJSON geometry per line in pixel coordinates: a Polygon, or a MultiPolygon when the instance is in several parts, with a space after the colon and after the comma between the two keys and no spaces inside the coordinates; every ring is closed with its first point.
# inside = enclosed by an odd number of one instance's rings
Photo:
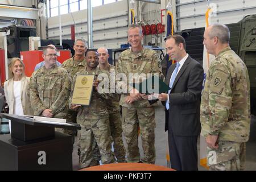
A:
{"type": "Polygon", "coordinates": [[[95,75],[77,75],[73,91],[72,104],[82,106],[90,105],[93,92],[93,80],[95,75]]]}

